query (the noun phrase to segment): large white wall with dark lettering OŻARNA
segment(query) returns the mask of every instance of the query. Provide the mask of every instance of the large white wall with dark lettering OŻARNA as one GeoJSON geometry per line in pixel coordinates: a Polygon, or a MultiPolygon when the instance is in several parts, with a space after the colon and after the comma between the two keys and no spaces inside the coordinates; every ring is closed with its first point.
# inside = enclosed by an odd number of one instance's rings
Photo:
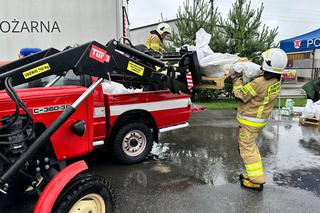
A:
{"type": "Polygon", "coordinates": [[[23,47],[63,49],[120,36],[122,0],[0,0],[0,60],[16,59],[23,47]],[[50,32],[36,27],[41,21],[50,32]]]}

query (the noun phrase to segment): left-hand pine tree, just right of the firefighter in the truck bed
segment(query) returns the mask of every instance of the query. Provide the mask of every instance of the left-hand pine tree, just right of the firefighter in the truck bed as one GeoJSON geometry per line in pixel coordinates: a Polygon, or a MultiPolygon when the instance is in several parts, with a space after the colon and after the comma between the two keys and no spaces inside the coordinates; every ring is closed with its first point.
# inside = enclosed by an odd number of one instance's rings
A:
{"type": "Polygon", "coordinates": [[[178,10],[176,22],[178,32],[173,32],[171,42],[176,47],[184,44],[194,45],[196,32],[200,28],[211,34],[216,32],[216,23],[219,17],[220,13],[217,8],[214,8],[213,4],[208,1],[193,0],[191,6],[190,1],[186,0],[183,9],[180,7],[178,10]]]}

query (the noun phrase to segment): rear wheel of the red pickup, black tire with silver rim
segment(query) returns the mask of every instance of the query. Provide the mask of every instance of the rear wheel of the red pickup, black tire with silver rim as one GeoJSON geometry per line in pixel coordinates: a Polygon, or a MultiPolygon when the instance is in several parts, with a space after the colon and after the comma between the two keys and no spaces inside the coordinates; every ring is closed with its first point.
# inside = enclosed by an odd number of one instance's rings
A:
{"type": "Polygon", "coordinates": [[[144,123],[135,122],[123,126],[118,131],[113,141],[112,150],[119,163],[134,164],[146,159],[152,145],[153,136],[149,127],[144,123]]]}

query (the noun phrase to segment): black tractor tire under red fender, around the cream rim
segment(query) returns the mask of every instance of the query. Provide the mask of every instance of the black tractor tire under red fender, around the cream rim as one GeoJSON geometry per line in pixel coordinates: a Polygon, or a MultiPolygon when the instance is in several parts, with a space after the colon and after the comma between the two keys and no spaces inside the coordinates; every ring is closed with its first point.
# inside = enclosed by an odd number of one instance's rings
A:
{"type": "Polygon", "coordinates": [[[110,183],[103,177],[87,174],[79,175],[70,181],[59,195],[52,212],[69,212],[78,201],[88,195],[100,196],[104,201],[105,212],[115,210],[115,194],[110,183]]]}

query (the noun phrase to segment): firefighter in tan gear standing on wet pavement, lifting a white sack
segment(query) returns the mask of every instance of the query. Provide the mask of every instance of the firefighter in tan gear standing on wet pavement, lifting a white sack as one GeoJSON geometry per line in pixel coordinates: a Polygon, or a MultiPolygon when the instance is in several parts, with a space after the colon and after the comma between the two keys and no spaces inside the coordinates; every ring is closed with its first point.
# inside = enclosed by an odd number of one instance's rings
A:
{"type": "Polygon", "coordinates": [[[233,78],[233,93],[238,100],[239,150],[246,174],[240,175],[241,185],[263,190],[265,176],[256,144],[281,90],[281,74],[287,65],[287,55],[272,48],[262,53],[261,74],[244,84],[241,74],[233,78]]]}

